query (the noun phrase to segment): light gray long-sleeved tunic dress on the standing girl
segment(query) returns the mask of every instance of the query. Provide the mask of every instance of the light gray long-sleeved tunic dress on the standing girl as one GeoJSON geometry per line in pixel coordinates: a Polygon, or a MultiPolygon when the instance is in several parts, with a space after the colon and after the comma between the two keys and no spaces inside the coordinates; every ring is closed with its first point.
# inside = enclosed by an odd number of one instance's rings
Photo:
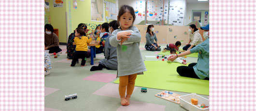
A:
{"type": "Polygon", "coordinates": [[[131,26],[128,30],[134,32],[129,36],[126,42],[133,42],[131,44],[120,45],[118,44],[116,35],[117,32],[122,31],[120,28],[113,31],[109,38],[109,42],[112,46],[117,48],[117,77],[132,75],[132,74],[143,74],[146,71],[145,64],[142,59],[140,51],[141,33],[138,28],[131,26]],[[127,48],[122,50],[122,47],[127,48]]]}

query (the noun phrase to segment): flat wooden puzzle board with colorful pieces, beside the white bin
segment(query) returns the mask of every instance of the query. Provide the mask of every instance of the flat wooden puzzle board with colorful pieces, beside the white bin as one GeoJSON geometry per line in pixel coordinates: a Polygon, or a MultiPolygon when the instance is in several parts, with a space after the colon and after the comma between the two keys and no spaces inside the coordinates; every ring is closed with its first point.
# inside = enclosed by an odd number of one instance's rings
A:
{"type": "Polygon", "coordinates": [[[180,104],[180,96],[179,94],[172,93],[170,91],[162,91],[155,95],[156,97],[163,98],[165,100],[180,104]]]}

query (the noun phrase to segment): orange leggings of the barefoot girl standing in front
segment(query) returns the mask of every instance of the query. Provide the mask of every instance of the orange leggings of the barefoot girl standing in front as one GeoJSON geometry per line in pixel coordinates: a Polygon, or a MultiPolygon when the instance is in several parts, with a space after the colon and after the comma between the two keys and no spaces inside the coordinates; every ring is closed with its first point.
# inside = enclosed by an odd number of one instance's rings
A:
{"type": "Polygon", "coordinates": [[[135,79],[137,74],[120,76],[119,77],[119,95],[120,97],[125,97],[126,86],[127,86],[127,95],[131,95],[135,85],[135,79]]]}

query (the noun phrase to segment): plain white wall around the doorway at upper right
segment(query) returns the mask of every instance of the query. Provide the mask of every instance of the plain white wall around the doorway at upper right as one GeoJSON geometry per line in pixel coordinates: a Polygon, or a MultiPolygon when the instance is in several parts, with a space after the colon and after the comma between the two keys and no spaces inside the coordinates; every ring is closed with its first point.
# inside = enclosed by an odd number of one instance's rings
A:
{"type": "Polygon", "coordinates": [[[209,3],[187,3],[186,4],[186,18],[185,24],[189,24],[191,21],[192,10],[209,10],[209,3]],[[190,16],[190,19],[189,19],[190,16]]]}

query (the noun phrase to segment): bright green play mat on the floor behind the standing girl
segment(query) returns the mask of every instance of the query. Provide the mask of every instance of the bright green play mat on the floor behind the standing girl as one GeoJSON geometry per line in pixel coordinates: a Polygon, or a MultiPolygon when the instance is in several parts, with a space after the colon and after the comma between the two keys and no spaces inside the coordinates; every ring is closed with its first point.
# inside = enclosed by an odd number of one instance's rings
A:
{"type": "MultiPolygon", "coordinates": [[[[135,86],[161,90],[179,91],[209,95],[209,81],[180,76],[178,66],[187,66],[180,63],[166,61],[144,61],[147,71],[138,75],[135,86]]],[[[119,83],[117,79],[114,83],[119,83]]]]}

